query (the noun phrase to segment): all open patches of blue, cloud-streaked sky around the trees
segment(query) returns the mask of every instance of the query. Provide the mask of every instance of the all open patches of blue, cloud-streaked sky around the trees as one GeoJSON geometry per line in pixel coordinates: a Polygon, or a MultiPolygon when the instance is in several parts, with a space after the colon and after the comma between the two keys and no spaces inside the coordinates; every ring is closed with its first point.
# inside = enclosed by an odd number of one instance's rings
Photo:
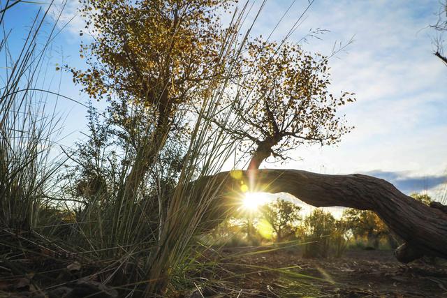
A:
{"type": "MultiPolygon", "coordinates": [[[[2,6],[4,3],[1,0],[2,6]]],[[[254,1],[248,20],[254,18],[260,4],[254,1]]],[[[341,111],[355,129],[337,146],[300,147],[291,154],[293,161],[285,165],[264,163],[261,167],[325,174],[360,172],[388,179],[404,193],[428,191],[434,198],[445,196],[447,66],[434,57],[435,33],[429,28],[437,22],[439,5],[438,0],[314,1],[289,41],[299,42],[309,52],[331,54],[334,45],[353,40],[329,64],[330,91],[356,94],[356,103],[341,111]],[[316,29],[328,31],[303,40],[316,29]]],[[[8,11],[6,24],[13,29],[13,45],[22,43],[21,32],[41,6],[19,3],[8,11]]],[[[56,64],[85,66],[78,50],[80,41],[88,42],[89,37],[79,34],[84,21],[77,16],[77,6],[77,0],[69,0],[59,22],[62,29],[71,20],[54,40],[50,59],[54,68],[56,64]]],[[[284,16],[271,38],[281,40],[307,6],[307,0],[268,0],[252,35],[267,36],[284,16]]],[[[49,20],[54,20],[57,11],[52,10],[49,20]]],[[[54,77],[54,82],[61,82],[61,94],[88,102],[69,73],[54,70],[54,77]]],[[[52,88],[59,89],[59,85],[53,84],[52,88]]],[[[104,107],[103,103],[95,105],[100,110],[104,107]]],[[[82,139],[86,110],[69,100],[59,100],[58,109],[66,119],[60,142],[69,146],[82,139]]]]}

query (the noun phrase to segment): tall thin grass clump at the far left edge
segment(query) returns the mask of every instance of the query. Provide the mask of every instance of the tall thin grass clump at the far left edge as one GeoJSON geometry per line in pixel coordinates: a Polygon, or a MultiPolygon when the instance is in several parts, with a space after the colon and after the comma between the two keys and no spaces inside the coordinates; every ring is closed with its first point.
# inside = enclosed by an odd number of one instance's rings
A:
{"type": "Polygon", "coordinates": [[[61,119],[48,111],[45,91],[45,54],[55,27],[41,39],[48,10],[39,10],[22,49],[10,50],[8,42],[14,33],[6,31],[4,21],[11,3],[6,3],[0,19],[0,225],[31,230],[38,225],[39,212],[61,166],[51,151],[61,119]]]}

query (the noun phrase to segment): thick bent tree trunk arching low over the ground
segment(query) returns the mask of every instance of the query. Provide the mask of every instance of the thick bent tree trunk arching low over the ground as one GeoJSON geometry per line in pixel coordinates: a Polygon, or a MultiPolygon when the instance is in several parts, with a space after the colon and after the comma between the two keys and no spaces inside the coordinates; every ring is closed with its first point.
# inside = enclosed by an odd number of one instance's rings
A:
{"type": "Polygon", "coordinates": [[[363,174],[329,175],[302,170],[221,172],[200,179],[199,187],[219,187],[220,199],[208,216],[223,216],[240,204],[241,186],[251,191],[290,193],[315,207],[350,207],[374,211],[388,228],[404,239],[397,248],[401,262],[423,255],[447,258],[447,213],[404,195],[383,179],[363,174]],[[236,174],[235,174],[236,173],[236,174]]]}

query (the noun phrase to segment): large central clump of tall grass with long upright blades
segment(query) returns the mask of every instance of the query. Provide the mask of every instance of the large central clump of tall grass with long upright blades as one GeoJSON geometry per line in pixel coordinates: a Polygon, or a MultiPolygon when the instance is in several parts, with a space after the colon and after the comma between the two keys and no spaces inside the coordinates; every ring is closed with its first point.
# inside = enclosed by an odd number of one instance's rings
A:
{"type": "MultiPolygon", "coordinates": [[[[91,191],[85,191],[80,204],[72,208],[75,222],[71,239],[83,254],[107,262],[103,269],[108,272],[104,283],[119,283],[129,292],[143,291],[145,297],[168,295],[167,291],[174,291],[175,284],[189,283],[193,287],[188,278],[179,276],[187,276],[186,272],[195,268],[196,255],[201,255],[198,251],[204,249],[198,244],[197,237],[217,225],[215,210],[223,210],[219,207],[222,204],[219,182],[208,181],[204,186],[194,181],[220,172],[224,163],[235,154],[236,144],[228,130],[217,127],[212,119],[228,120],[234,112],[235,102],[222,108],[221,100],[223,94],[233,87],[230,80],[234,78],[236,61],[242,54],[250,30],[241,32],[246,8],[235,13],[230,26],[234,29],[222,36],[220,63],[214,69],[216,75],[211,76],[213,79],[207,82],[205,89],[194,95],[200,98],[197,111],[192,115],[179,113],[179,119],[175,120],[180,123],[190,119],[194,121],[175,187],[160,190],[166,183],[163,179],[169,176],[166,167],[170,164],[163,163],[164,155],[177,154],[175,148],[170,148],[170,139],[175,136],[168,134],[164,136],[167,140],[163,142],[163,148],[147,148],[158,152],[145,178],[147,184],[133,189],[131,195],[126,195],[126,200],[123,200],[119,190],[125,188],[131,165],[142,161],[136,159],[138,154],[130,144],[124,144],[117,154],[120,156],[118,159],[125,162],[113,161],[114,158],[110,158],[112,149],[106,148],[109,145],[106,140],[110,140],[112,134],[108,135],[107,129],[103,130],[101,121],[94,120],[96,116],[91,117],[87,147],[93,150],[90,156],[94,156],[94,161],[89,177],[86,177],[88,179],[82,181],[82,185],[91,191]],[[104,167],[112,171],[104,171],[104,167]]],[[[145,112],[145,107],[133,105],[132,108],[135,115],[145,112]]],[[[94,111],[92,113],[95,114],[94,111]]],[[[142,131],[154,129],[151,121],[144,124],[142,131]]],[[[239,125],[235,122],[228,127],[237,129],[239,125]]],[[[173,145],[179,146],[175,142],[173,145]]],[[[68,179],[64,188],[65,200],[73,198],[73,193],[80,186],[79,181],[68,179]]]]}

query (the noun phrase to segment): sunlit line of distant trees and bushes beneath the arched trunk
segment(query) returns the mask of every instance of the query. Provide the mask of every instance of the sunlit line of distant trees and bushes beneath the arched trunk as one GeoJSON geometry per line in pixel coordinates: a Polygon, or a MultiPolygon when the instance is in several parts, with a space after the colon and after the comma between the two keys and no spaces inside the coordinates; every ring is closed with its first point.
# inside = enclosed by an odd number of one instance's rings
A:
{"type": "MultiPolygon", "coordinates": [[[[427,205],[432,202],[427,194],[413,193],[411,197],[427,205]]],[[[330,254],[339,257],[347,246],[395,249],[402,243],[372,211],[346,208],[340,218],[335,218],[330,211],[314,209],[303,215],[300,205],[281,198],[256,210],[241,209],[221,223],[212,237],[212,241],[225,246],[295,243],[307,258],[330,254]]]]}

